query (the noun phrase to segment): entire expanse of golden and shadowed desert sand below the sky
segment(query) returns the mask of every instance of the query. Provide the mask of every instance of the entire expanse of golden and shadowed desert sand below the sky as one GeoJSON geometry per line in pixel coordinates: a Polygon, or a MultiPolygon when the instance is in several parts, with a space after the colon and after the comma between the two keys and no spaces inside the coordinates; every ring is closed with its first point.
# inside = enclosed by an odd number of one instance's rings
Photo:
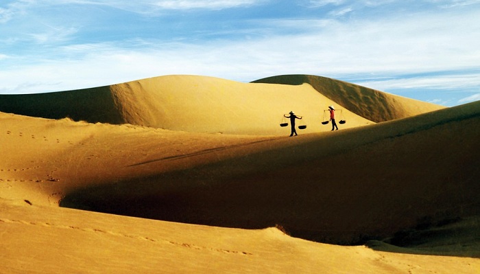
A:
{"type": "Polygon", "coordinates": [[[480,272],[480,102],[161,76],[0,111],[3,273],[480,272]]]}

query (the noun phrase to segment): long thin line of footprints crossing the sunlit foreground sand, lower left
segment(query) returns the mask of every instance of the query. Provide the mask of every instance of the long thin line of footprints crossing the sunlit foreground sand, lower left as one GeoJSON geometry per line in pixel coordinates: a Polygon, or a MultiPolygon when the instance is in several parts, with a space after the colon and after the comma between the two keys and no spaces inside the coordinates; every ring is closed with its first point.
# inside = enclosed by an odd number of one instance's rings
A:
{"type": "MultiPolygon", "coordinates": [[[[25,203],[27,203],[28,205],[32,205],[32,203],[29,202],[28,200],[25,200],[25,203]]],[[[229,249],[219,249],[215,247],[204,247],[201,245],[191,244],[186,242],[176,242],[172,240],[157,239],[157,238],[151,238],[151,237],[145,237],[145,236],[136,236],[132,234],[119,233],[115,231],[106,231],[103,229],[95,229],[91,227],[77,227],[75,225],[57,225],[51,222],[29,222],[26,220],[11,220],[8,218],[0,218],[0,223],[2,222],[5,224],[35,225],[40,227],[51,227],[51,228],[58,228],[58,229],[74,229],[77,231],[84,231],[89,233],[104,233],[111,236],[131,238],[134,240],[143,240],[143,241],[154,242],[158,244],[172,244],[176,247],[193,249],[197,251],[213,251],[213,252],[220,252],[220,253],[231,254],[231,255],[253,255],[253,253],[250,253],[247,251],[233,251],[229,249]]]]}

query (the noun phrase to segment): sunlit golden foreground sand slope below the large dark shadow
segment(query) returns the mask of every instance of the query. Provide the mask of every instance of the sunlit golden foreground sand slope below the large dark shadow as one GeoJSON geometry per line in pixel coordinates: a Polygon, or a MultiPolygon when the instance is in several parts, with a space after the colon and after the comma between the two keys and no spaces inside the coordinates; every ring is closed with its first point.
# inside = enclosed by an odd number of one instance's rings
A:
{"type": "MultiPolygon", "coordinates": [[[[477,273],[472,258],[338,247],[286,236],[0,199],[3,273],[477,273]]],[[[403,250],[405,252],[405,249],[403,250]]]]}

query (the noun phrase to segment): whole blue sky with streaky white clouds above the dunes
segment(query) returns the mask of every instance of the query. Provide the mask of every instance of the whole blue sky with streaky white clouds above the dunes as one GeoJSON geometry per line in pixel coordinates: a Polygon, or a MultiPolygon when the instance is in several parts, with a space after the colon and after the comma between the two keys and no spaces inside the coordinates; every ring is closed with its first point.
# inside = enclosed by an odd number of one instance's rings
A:
{"type": "Polygon", "coordinates": [[[3,0],[0,93],[195,74],[480,100],[480,0],[3,0]]]}

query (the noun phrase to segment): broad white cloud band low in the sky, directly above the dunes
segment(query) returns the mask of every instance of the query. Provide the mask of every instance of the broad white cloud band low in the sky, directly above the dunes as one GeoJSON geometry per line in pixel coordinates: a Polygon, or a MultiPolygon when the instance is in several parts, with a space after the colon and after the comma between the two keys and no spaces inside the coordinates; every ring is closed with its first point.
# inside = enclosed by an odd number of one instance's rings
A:
{"type": "MultiPolygon", "coordinates": [[[[367,72],[377,76],[388,76],[406,72],[422,73],[429,69],[417,67],[417,64],[410,65],[409,62],[403,62],[404,56],[389,55],[381,52],[380,48],[379,51],[372,53],[373,56],[357,53],[357,50],[363,51],[373,47],[366,43],[366,40],[364,45],[359,41],[359,48],[354,49],[354,52],[351,52],[352,49],[348,52],[348,48],[343,46],[339,46],[340,49],[332,47],[340,43],[340,37],[331,36],[324,41],[319,36],[309,34],[276,36],[235,43],[210,41],[201,45],[131,41],[132,44],[138,43],[131,45],[131,49],[122,48],[122,43],[69,45],[59,48],[56,52],[57,55],[67,56],[68,59],[62,60],[52,56],[51,60],[47,61],[34,60],[36,65],[23,67],[16,65],[15,69],[7,69],[0,73],[0,82],[5,87],[3,92],[35,93],[96,87],[168,74],[197,74],[250,82],[263,77],[290,73],[342,78],[352,74],[363,74],[364,77],[367,72]],[[20,89],[18,83],[24,81],[36,83],[37,86],[21,85],[20,89]]],[[[429,58],[437,60],[439,57],[427,56],[425,60],[429,58]]],[[[446,56],[441,65],[455,70],[455,59],[458,58],[459,56],[446,56]]],[[[374,79],[356,83],[380,90],[480,87],[479,67],[461,69],[464,72],[456,74],[374,79]]]]}

